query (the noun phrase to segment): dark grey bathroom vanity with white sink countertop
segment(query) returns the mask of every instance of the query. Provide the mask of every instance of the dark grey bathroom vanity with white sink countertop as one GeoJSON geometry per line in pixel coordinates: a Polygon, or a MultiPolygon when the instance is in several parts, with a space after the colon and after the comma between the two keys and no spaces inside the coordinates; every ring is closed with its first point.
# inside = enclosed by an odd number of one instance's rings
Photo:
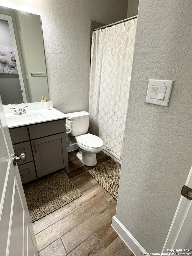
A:
{"type": "Polygon", "coordinates": [[[54,108],[6,114],[15,155],[26,155],[24,163],[17,162],[23,184],[57,170],[68,172],[66,117],[54,108]]]}

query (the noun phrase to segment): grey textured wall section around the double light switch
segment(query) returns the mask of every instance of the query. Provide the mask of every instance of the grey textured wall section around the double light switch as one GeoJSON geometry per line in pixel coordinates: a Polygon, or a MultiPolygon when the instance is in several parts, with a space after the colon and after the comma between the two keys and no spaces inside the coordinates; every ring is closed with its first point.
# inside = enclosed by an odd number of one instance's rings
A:
{"type": "Polygon", "coordinates": [[[140,0],[116,217],[161,252],[191,167],[192,5],[140,0]],[[145,103],[149,79],[174,80],[168,107],[145,103]]]}

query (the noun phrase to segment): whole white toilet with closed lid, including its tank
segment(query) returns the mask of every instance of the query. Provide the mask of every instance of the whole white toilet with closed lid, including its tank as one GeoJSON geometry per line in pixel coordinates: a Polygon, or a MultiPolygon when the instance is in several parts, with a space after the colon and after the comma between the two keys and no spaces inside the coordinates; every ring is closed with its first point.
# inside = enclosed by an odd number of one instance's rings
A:
{"type": "Polygon", "coordinates": [[[94,166],[97,164],[96,154],[103,149],[103,141],[98,136],[87,133],[90,114],[80,111],[66,115],[66,124],[71,127],[71,135],[75,136],[79,147],[77,158],[87,166],[94,166]]]}

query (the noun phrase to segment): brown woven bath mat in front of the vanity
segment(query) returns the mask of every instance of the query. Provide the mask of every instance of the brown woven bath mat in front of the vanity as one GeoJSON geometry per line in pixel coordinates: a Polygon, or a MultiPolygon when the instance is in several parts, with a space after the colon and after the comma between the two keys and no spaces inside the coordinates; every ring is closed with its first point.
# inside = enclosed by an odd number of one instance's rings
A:
{"type": "Polygon", "coordinates": [[[82,196],[63,170],[23,189],[32,223],[82,196]]]}

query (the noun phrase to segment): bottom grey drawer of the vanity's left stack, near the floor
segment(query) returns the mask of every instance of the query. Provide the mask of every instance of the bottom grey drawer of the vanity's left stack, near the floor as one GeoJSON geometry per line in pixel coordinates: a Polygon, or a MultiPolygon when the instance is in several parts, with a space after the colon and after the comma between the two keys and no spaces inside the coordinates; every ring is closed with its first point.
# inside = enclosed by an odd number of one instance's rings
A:
{"type": "Polygon", "coordinates": [[[23,184],[37,178],[34,162],[22,164],[18,168],[23,184]]]}

